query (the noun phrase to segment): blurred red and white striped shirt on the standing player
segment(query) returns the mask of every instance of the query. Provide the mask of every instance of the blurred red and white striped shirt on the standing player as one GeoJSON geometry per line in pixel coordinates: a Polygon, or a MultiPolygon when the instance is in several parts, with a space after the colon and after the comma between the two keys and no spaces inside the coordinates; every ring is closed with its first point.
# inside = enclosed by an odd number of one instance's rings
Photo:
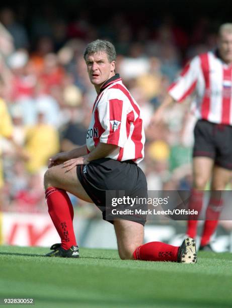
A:
{"type": "Polygon", "coordinates": [[[225,64],[214,52],[194,57],[169,88],[178,102],[195,90],[198,119],[232,125],[232,65],[225,64]]]}

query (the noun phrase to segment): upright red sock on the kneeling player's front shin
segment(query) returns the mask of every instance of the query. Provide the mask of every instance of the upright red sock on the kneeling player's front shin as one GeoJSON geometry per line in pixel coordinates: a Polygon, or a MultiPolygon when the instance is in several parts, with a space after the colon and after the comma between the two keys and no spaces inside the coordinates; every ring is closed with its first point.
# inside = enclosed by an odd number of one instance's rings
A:
{"type": "Polygon", "coordinates": [[[75,234],[73,230],[73,207],[65,190],[48,187],[45,191],[48,205],[48,213],[60,236],[61,247],[69,249],[76,246],[75,234]]]}

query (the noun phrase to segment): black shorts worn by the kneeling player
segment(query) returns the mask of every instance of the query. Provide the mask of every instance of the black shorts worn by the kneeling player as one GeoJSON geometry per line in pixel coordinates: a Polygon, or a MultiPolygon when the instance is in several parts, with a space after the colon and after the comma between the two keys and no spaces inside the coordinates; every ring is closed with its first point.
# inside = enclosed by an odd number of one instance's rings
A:
{"type": "MultiPolygon", "coordinates": [[[[88,165],[79,165],[76,168],[79,181],[83,188],[102,211],[104,220],[113,223],[114,217],[109,218],[106,213],[106,191],[125,191],[130,198],[147,199],[147,183],[142,170],[133,162],[118,162],[109,158],[94,160],[88,165]]],[[[137,209],[146,210],[146,203],[135,205],[137,209]]],[[[128,205],[125,205],[128,208],[128,205]]],[[[146,215],[123,215],[117,219],[136,221],[145,224],[146,215]]]]}

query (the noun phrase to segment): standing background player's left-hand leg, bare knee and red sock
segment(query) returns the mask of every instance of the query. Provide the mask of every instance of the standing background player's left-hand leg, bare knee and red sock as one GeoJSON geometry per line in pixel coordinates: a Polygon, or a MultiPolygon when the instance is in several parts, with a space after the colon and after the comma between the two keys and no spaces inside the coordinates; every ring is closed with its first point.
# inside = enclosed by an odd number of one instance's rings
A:
{"type": "MultiPolygon", "coordinates": [[[[204,189],[209,181],[214,161],[208,157],[195,157],[193,159],[193,189],[189,200],[189,209],[201,211],[203,204],[204,189]]],[[[197,218],[197,217],[195,217],[197,218]]],[[[186,234],[190,238],[195,238],[197,235],[197,220],[189,219],[187,222],[186,234]]]]}

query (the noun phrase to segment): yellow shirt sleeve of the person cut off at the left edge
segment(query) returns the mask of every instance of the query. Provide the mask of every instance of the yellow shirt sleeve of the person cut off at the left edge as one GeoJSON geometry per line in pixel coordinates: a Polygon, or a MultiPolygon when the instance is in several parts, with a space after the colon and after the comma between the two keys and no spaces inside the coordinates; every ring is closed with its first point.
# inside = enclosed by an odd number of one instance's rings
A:
{"type": "Polygon", "coordinates": [[[13,133],[13,125],[6,103],[0,99],[0,135],[8,138],[13,133]]]}

